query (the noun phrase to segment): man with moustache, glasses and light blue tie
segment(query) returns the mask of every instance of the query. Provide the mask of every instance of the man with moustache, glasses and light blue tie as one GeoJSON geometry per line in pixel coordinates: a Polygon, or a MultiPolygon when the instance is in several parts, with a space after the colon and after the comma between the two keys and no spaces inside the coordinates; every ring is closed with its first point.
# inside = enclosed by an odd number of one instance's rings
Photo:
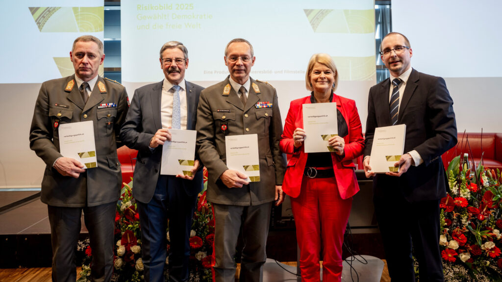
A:
{"type": "Polygon", "coordinates": [[[197,195],[202,190],[202,167],[197,156],[193,177],[160,175],[162,145],[170,128],[195,130],[201,86],[185,80],[188,50],[170,41],[160,50],[165,79],[136,89],[120,130],[124,144],[138,150],[133,196],[138,202],[146,281],[164,281],[169,219],[169,280],[187,281],[189,235],[197,195]]]}

